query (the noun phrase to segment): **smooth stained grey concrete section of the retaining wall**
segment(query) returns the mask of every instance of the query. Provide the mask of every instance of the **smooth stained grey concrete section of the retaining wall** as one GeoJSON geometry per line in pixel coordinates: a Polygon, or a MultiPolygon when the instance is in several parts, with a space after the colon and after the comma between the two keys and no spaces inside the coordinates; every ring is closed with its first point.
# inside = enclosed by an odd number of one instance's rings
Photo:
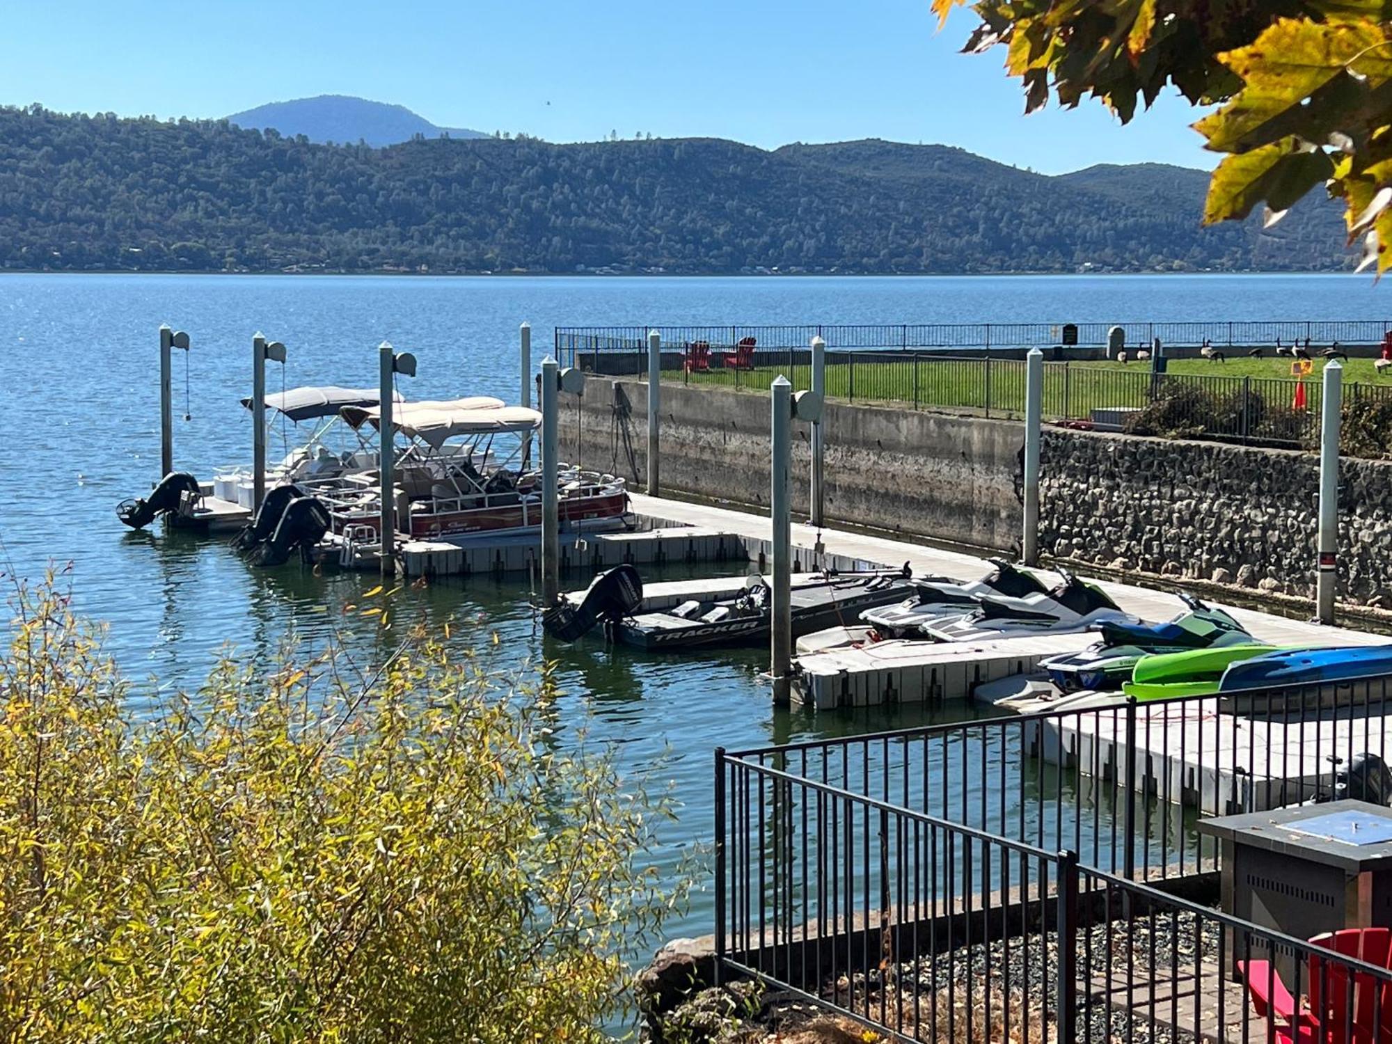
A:
{"type": "MultiPolygon", "coordinates": [[[[589,468],[647,479],[647,386],[592,377],[564,432],[589,468]]],[[[663,489],[768,505],[768,397],[663,386],[663,489]]],[[[1004,420],[828,404],[827,518],[1002,551],[1019,546],[1023,429],[1004,420]]],[[[807,511],[809,429],[795,425],[793,509],[807,511]]]]}

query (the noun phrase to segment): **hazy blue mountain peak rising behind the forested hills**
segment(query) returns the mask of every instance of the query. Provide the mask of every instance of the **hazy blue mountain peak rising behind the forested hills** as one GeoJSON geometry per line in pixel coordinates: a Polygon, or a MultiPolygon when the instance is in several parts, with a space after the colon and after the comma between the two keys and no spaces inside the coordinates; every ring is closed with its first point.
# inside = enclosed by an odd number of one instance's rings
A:
{"type": "Polygon", "coordinates": [[[418,134],[426,138],[450,135],[451,138],[487,138],[479,131],[462,127],[436,127],[423,116],[416,116],[405,106],[391,106],[384,102],[369,102],[365,97],[348,95],[319,95],[299,97],[294,102],[271,102],[227,117],[238,127],[264,131],[271,128],[285,138],[298,134],[312,142],[338,142],[356,145],[367,142],[373,148],[408,142],[418,134]]]}

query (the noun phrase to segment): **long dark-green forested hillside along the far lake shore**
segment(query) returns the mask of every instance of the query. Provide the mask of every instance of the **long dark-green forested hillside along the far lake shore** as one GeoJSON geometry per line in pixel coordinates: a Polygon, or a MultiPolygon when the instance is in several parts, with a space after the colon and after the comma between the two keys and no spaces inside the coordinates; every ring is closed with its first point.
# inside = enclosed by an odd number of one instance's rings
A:
{"type": "MultiPolygon", "coordinates": [[[[1176,171],[1179,171],[1176,174],[1176,171]]],[[[1338,212],[1200,228],[1205,175],[1043,177],[942,146],[315,145],[0,109],[0,267],[841,273],[1331,269],[1338,212]]]]}

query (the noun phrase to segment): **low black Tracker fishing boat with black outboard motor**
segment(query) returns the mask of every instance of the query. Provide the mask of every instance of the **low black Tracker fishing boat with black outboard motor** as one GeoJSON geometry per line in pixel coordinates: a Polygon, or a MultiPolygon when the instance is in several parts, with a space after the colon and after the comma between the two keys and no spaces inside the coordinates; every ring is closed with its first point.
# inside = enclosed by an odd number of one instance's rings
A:
{"type": "MultiPolygon", "coordinates": [[[[717,649],[770,640],[773,590],[761,576],[750,576],[729,599],[683,601],[661,612],[638,612],[642,583],[632,567],[601,574],[579,606],[562,604],[543,618],[553,638],[574,642],[604,625],[611,642],[650,650],[717,649]]],[[[805,635],[835,619],[855,617],[873,606],[903,599],[906,571],[806,574],[791,587],[792,633],[805,635]]]]}

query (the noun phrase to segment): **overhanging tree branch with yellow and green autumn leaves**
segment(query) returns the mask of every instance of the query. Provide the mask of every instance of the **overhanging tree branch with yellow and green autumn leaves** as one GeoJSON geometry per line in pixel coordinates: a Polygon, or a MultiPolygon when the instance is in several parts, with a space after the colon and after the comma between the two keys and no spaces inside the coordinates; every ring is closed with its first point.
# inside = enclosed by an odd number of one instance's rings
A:
{"type": "MultiPolygon", "coordinates": [[[[965,0],[933,0],[940,28],[965,0]]],[[[1006,49],[1025,110],[1100,99],[1122,122],[1166,86],[1218,106],[1194,124],[1224,153],[1204,221],[1275,224],[1325,185],[1345,203],[1359,269],[1392,266],[1392,3],[979,0],[963,52],[1006,49]]]]}

